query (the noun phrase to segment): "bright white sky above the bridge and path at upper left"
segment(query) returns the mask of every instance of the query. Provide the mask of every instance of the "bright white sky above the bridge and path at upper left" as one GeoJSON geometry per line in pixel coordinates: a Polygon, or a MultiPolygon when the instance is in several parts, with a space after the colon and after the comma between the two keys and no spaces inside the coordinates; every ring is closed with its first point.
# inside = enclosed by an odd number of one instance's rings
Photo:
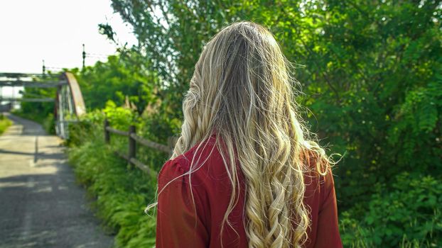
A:
{"type": "MultiPolygon", "coordinates": [[[[112,55],[116,46],[98,33],[99,23],[109,23],[120,43],[136,43],[110,0],[0,1],[0,72],[41,73],[42,60],[46,67],[81,67],[83,43],[88,53],[112,55]]],[[[105,57],[87,57],[86,64],[97,60],[105,57]]]]}

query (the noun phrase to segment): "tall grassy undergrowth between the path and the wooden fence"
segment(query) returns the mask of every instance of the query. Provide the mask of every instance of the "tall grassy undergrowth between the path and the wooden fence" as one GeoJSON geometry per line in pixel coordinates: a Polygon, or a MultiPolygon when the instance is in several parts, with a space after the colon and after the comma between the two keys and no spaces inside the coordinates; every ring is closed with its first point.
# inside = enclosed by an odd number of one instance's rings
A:
{"type": "Polygon", "coordinates": [[[153,203],[156,179],[114,155],[100,132],[68,149],[77,181],[95,199],[92,209],[104,229],[115,235],[115,247],[153,247],[156,216],[144,209],[153,203]]]}

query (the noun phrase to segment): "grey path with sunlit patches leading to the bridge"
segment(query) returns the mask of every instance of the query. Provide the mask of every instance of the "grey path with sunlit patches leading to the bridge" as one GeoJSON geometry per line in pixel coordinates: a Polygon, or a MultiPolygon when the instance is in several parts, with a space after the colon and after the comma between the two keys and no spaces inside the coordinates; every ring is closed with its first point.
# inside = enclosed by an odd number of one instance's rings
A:
{"type": "Polygon", "coordinates": [[[75,184],[61,140],[14,121],[0,136],[0,248],[112,247],[75,184]]]}

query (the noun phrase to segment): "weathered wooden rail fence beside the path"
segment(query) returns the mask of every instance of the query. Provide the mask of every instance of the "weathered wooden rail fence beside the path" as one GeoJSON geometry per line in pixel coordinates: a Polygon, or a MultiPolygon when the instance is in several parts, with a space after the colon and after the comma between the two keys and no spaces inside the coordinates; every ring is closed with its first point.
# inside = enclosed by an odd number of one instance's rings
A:
{"type": "Polygon", "coordinates": [[[104,140],[106,143],[110,143],[110,134],[114,133],[116,135],[122,135],[128,137],[128,153],[124,154],[119,151],[115,151],[115,153],[122,157],[123,159],[126,159],[127,162],[134,164],[136,167],[141,169],[142,171],[145,171],[147,174],[150,174],[152,176],[157,176],[157,172],[150,169],[146,164],[143,164],[138,159],[136,159],[136,145],[144,145],[145,147],[150,147],[152,149],[166,152],[169,155],[173,152],[173,147],[176,143],[176,137],[169,137],[168,138],[168,145],[159,144],[157,142],[153,142],[151,140],[146,140],[144,137],[139,137],[136,135],[136,129],[134,125],[129,126],[129,131],[122,131],[115,128],[111,128],[109,126],[109,120],[104,119],[104,140]]]}

